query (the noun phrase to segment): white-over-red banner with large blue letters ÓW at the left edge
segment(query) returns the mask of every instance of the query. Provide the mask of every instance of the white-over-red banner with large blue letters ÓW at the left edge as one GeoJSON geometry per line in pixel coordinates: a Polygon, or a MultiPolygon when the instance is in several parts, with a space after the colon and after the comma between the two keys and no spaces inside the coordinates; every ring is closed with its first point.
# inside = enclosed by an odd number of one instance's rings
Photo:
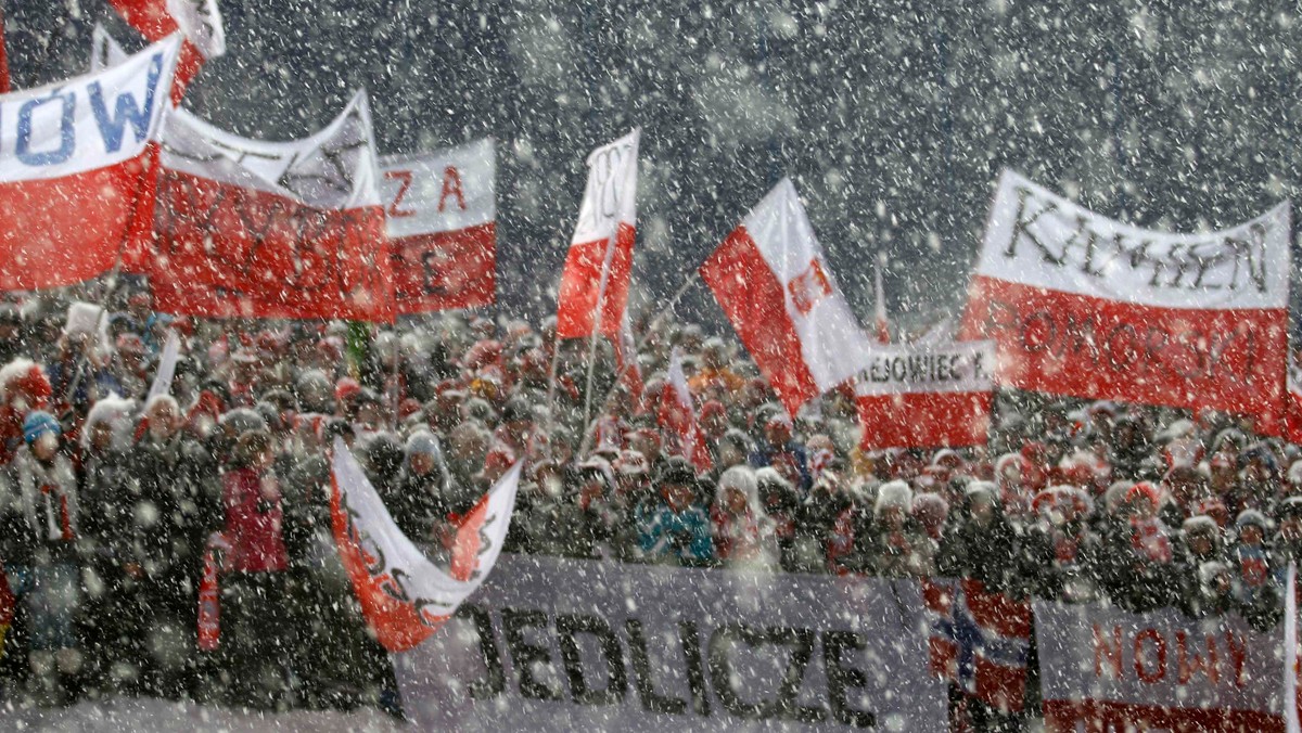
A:
{"type": "Polygon", "coordinates": [[[147,236],[178,43],[0,96],[0,290],[95,277],[147,236]]]}

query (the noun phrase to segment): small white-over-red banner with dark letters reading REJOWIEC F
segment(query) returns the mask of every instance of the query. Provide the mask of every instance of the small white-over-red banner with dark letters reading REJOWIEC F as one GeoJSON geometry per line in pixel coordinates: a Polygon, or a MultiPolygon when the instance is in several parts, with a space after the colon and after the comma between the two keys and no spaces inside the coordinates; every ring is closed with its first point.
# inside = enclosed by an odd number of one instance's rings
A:
{"type": "Polygon", "coordinates": [[[861,447],[984,445],[993,371],[992,341],[876,349],[854,387],[861,447]]]}

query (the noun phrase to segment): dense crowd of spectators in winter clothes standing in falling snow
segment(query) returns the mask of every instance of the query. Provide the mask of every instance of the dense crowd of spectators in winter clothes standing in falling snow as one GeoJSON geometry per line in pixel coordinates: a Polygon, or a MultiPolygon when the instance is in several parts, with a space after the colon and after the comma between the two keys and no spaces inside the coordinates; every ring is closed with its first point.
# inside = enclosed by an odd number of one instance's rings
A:
{"type": "Polygon", "coordinates": [[[792,419],[740,345],[694,325],[641,324],[635,376],[605,342],[467,314],[389,329],[172,319],[145,290],[113,302],[0,305],[17,608],[0,695],[397,712],[331,538],[336,436],[444,561],[517,461],[506,549],[522,553],[965,577],[1268,629],[1302,548],[1298,449],[1224,414],[1003,394],[988,447],[863,450],[848,389],[792,419]],[[169,331],[176,376],[150,398],[169,331]],[[674,348],[708,469],[664,428],[674,348]],[[214,568],[220,643],[201,648],[214,568]]]}

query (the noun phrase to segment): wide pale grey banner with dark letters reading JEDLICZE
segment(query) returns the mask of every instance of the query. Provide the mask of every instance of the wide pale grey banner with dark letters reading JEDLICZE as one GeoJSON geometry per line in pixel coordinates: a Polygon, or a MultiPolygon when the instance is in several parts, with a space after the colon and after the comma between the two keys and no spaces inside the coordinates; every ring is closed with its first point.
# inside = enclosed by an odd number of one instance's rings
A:
{"type": "Polygon", "coordinates": [[[393,656],[424,730],[948,730],[909,581],[503,555],[393,656]]]}

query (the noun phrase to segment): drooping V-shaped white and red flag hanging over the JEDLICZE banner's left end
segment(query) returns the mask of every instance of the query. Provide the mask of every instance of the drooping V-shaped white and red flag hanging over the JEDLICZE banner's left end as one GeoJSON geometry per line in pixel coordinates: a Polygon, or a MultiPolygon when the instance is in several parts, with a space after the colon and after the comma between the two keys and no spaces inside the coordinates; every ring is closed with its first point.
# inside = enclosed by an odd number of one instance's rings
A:
{"type": "Polygon", "coordinates": [[[497,562],[523,463],[517,462],[457,529],[444,572],[398,530],[342,439],[331,458],[331,523],[340,560],[376,638],[406,651],[430,638],[497,562]]]}

